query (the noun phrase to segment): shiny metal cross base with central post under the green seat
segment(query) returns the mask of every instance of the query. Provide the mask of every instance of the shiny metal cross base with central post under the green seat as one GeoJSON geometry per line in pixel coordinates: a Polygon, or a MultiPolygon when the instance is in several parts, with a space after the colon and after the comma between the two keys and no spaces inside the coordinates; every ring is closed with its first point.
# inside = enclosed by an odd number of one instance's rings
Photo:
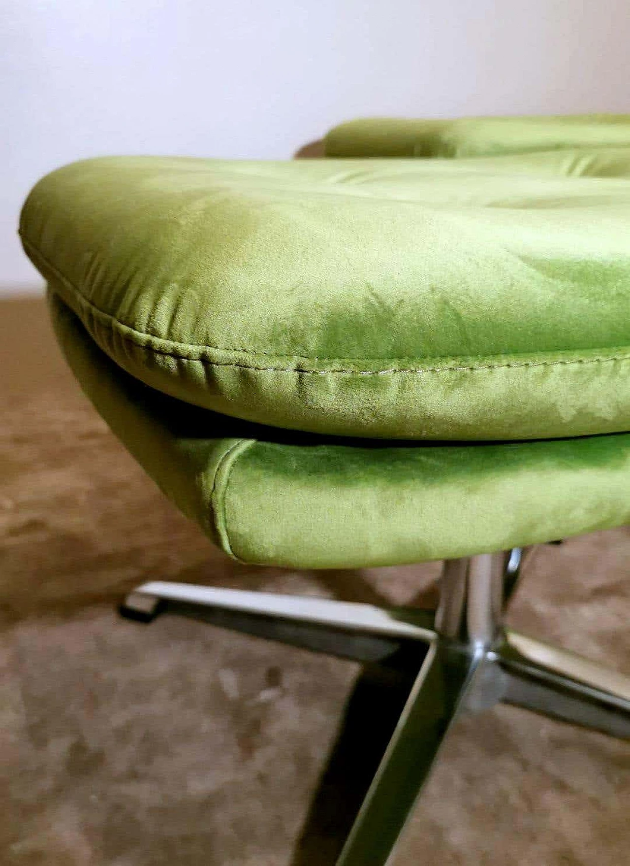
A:
{"type": "MultiPolygon", "coordinates": [[[[415,681],[337,866],[384,866],[460,712],[499,701],[630,739],[630,677],[501,624],[521,551],[452,559],[435,612],[147,583],[126,617],[169,610],[311,650],[413,666],[415,681]]],[[[409,667],[407,667],[409,669],[409,667]]]]}

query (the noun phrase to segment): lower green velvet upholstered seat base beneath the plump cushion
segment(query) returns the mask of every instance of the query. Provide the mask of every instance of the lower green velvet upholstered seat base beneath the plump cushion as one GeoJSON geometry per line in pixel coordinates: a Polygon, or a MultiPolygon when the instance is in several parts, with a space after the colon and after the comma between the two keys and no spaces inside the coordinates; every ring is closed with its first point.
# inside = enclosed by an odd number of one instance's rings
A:
{"type": "Polygon", "coordinates": [[[164,493],[238,559],[305,568],[490,552],[630,520],[630,434],[385,443],[273,430],[121,371],[57,294],[61,345],[164,493]]]}

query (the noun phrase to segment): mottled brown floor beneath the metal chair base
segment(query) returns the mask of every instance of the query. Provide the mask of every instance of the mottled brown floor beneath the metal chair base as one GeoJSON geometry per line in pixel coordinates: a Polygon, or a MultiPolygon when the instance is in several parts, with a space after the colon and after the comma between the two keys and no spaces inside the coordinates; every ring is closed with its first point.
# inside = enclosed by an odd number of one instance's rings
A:
{"type": "MultiPolygon", "coordinates": [[[[0,303],[0,346],[0,863],[330,866],[391,685],[349,704],[350,663],[114,605],[146,578],[401,602],[435,566],[231,562],[81,397],[41,301],[0,303]]],[[[541,548],[512,621],[630,671],[628,562],[626,529],[541,548]]],[[[460,723],[395,866],[624,866],[629,814],[627,743],[499,708],[460,723]]]]}

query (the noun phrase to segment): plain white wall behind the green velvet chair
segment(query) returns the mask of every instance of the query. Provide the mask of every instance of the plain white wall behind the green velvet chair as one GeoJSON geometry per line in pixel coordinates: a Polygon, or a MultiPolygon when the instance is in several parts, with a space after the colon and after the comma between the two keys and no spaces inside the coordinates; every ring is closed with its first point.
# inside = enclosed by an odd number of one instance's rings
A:
{"type": "Polygon", "coordinates": [[[630,111],[629,0],[1,0],[0,291],[44,172],[287,158],[365,114],[630,111]]]}

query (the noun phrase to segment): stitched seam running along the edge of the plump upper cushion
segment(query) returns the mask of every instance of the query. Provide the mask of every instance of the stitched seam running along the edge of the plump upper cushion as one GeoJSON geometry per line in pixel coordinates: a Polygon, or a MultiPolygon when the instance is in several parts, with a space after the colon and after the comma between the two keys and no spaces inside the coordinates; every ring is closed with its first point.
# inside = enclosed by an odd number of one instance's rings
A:
{"type": "MultiPolygon", "coordinates": [[[[279,366],[267,366],[260,367],[254,366],[251,364],[240,363],[238,361],[217,361],[215,359],[209,358],[187,358],[185,355],[177,354],[177,352],[167,351],[165,349],[157,349],[155,346],[145,346],[139,343],[136,339],[133,339],[131,334],[120,333],[116,328],[116,324],[119,327],[125,328],[132,334],[138,335],[141,338],[148,339],[159,339],[161,342],[168,342],[174,346],[188,346],[190,349],[201,349],[201,350],[212,350],[215,349],[218,352],[243,352],[245,354],[251,355],[270,355],[271,352],[252,352],[247,349],[226,349],[222,346],[194,346],[191,344],[183,344],[177,343],[175,340],[166,339],[164,337],[157,337],[150,333],[144,333],[142,331],[138,331],[132,326],[125,325],[119,320],[115,319],[111,313],[106,313],[104,310],[101,310],[99,307],[96,307],[92,301],[88,301],[86,297],[80,294],[78,288],[75,288],[72,282],[70,282],[66,276],[61,274],[55,265],[48,261],[48,259],[42,255],[38,249],[36,249],[29,241],[23,239],[23,243],[26,247],[28,247],[33,253],[35,253],[35,257],[41,258],[42,262],[46,265],[47,268],[51,270],[53,274],[64,283],[67,288],[69,288],[72,293],[75,295],[76,300],[79,301],[81,305],[84,307],[88,307],[89,310],[93,314],[98,314],[102,317],[101,325],[106,326],[110,332],[116,337],[116,339],[122,340],[125,343],[128,343],[138,349],[141,349],[145,352],[151,352],[154,355],[164,355],[168,358],[176,359],[178,361],[188,361],[195,362],[200,364],[208,364],[211,366],[217,367],[241,367],[245,370],[252,370],[255,372],[297,372],[297,373],[306,373],[315,376],[325,376],[328,373],[340,373],[346,374],[349,376],[382,376],[388,375],[391,373],[434,373],[434,372],[475,372],[481,370],[504,370],[504,369],[512,369],[518,367],[552,367],[552,366],[568,366],[575,364],[609,364],[614,363],[615,361],[627,361],[630,360],[630,354],[622,354],[622,355],[614,355],[612,357],[601,356],[597,358],[578,358],[578,359],[560,359],[556,361],[523,361],[523,362],[508,362],[505,364],[485,364],[485,365],[451,365],[451,366],[435,366],[435,367],[388,367],[384,370],[346,370],[343,367],[331,367],[327,370],[312,370],[305,367],[300,367],[299,365],[295,365],[292,367],[279,367],[279,366]]],[[[283,357],[281,355],[277,355],[276,357],[283,357]]],[[[287,356],[284,356],[287,357],[287,356]]],[[[329,358],[317,358],[313,357],[312,360],[335,360],[329,358]]],[[[349,361],[357,360],[364,361],[370,360],[367,358],[349,358],[349,361]]],[[[374,359],[379,360],[379,359],[374,359]]]]}

